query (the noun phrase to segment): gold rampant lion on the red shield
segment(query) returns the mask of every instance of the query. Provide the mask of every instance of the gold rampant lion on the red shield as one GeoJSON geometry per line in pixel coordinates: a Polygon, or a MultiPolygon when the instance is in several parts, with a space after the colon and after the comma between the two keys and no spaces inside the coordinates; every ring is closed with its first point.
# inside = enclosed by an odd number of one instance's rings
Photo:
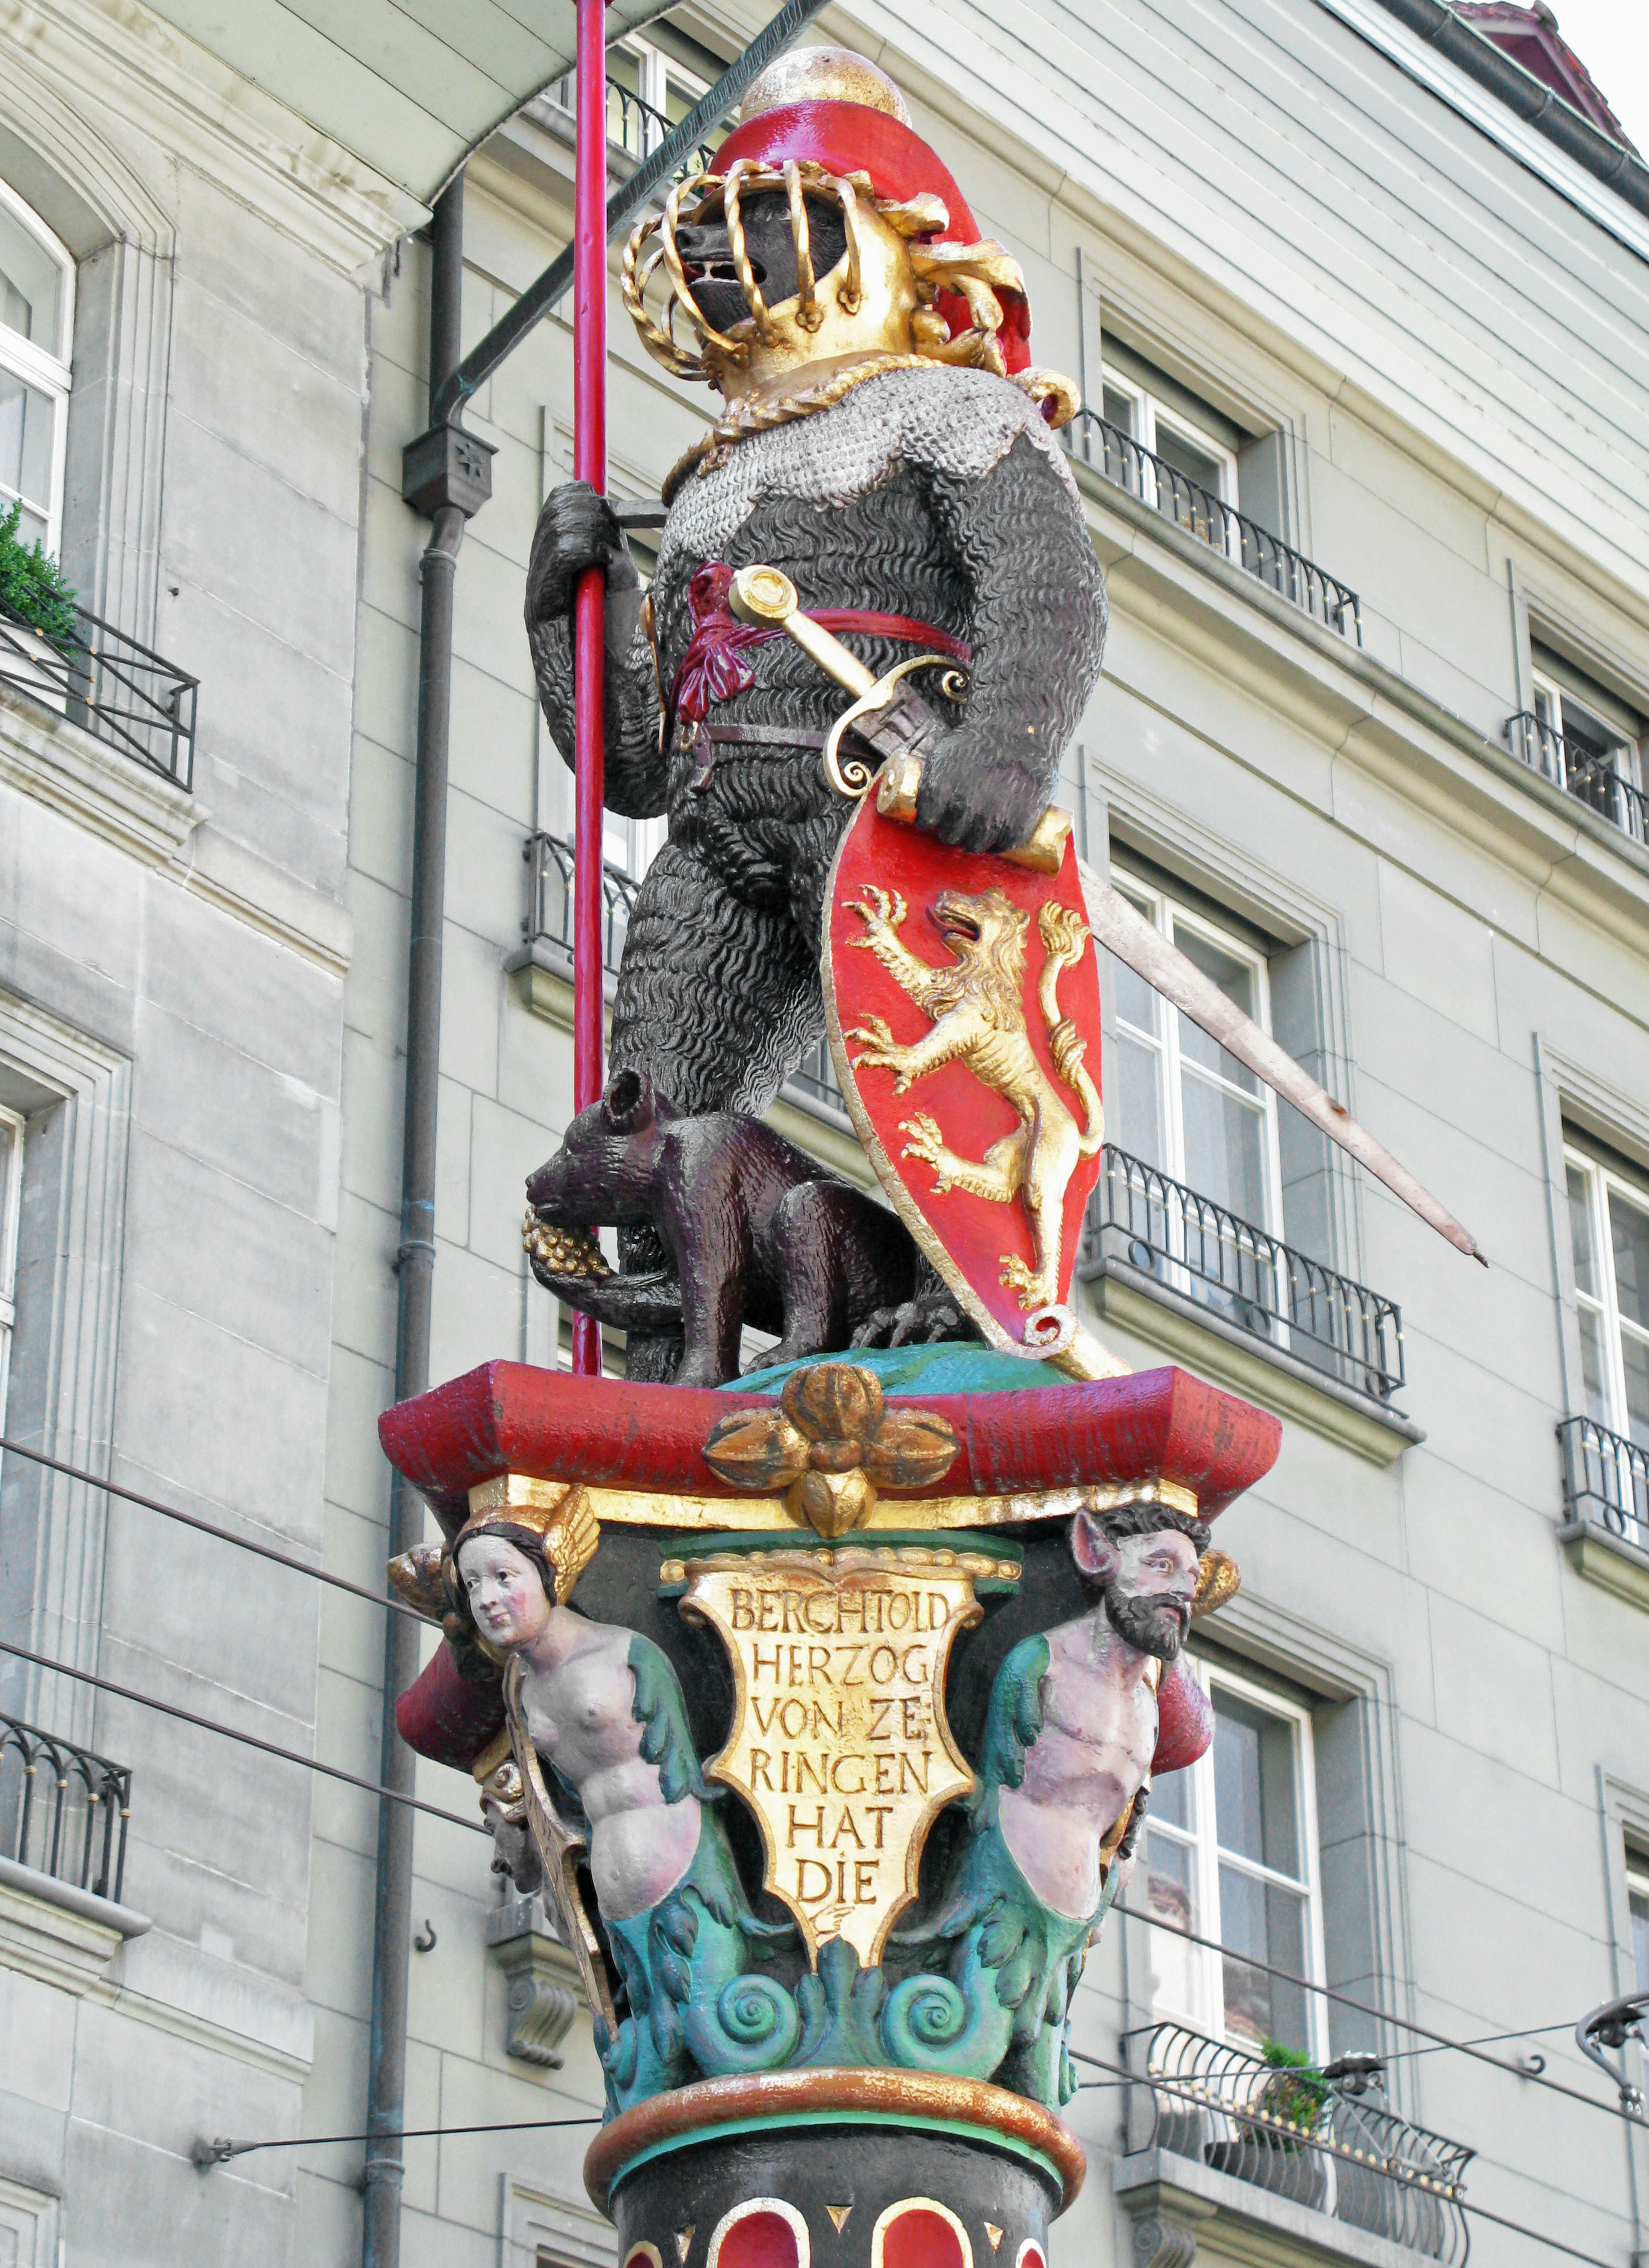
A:
{"type": "Polygon", "coordinates": [[[1082,1098],[1086,1111],[1086,1120],[1077,1125],[1041,1068],[1025,1027],[1028,912],[996,887],[973,898],[959,889],[941,891],[930,907],[935,928],[953,955],[941,968],[916,959],[898,934],[907,914],[898,891],[866,882],[864,894],[848,900],[848,912],[864,923],[864,937],[855,937],[853,943],[873,953],[923,1016],[932,1018],[932,1030],[910,1048],[894,1039],[882,1016],[853,1025],[844,1036],[862,1043],[853,1057],[855,1068],[869,1064],[891,1070],[894,1093],[903,1095],[912,1080],[944,1064],[966,1064],[975,1080],[1014,1107],[1018,1125],[991,1143],[982,1159],[957,1157],[925,1111],[900,1120],[900,1134],[910,1134],[903,1154],[932,1166],[939,1195],[964,1188],[991,1204],[1018,1198],[1030,1220],[1037,1266],[1032,1270],[1018,1254],[1003,1252],[1000,1281],[1018,1293],[1025,1311],[1052,1306],[1059,1297],[1066,1188],[1080,1159],[1093,1157],[1105,1139],[1100,1091],[1082,1064],[1086,1041],[1075,1023],[1059,1014],[1059,978],[1082,959],[1089,943],[1086,925],[1052,898],[1037,916],[1046,953],[1037,1000],[1059,1077],[1082,1098]]]}

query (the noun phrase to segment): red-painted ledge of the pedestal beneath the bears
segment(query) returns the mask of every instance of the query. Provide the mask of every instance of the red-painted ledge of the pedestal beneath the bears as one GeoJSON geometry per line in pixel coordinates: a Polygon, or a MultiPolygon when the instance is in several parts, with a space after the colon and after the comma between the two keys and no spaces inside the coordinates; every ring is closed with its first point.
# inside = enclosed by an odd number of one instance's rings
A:
{"type": "MultiPolygon", "coordinates": [[[[447,1535],[456,1535],[470,1513],[467,1492],[501,1472],[737,1497],[705,1465],[705,1438],[737,1408],[771,1406],[771,1397],[758,1395],[483,1363],[386,1411],[379,1440],[447,1535]]],[[[937,1411],[962,1442],[950,1470],[912,1490],[916,1497],[1168,1479],[1193,1488],[1202,1517],[1211,1520],[1270,1472],[1282,1442],[1268,1411],[1189,1370],[1139,1370],[1016,1395],[889,1395],[889,1406],[937,1411]]]]}

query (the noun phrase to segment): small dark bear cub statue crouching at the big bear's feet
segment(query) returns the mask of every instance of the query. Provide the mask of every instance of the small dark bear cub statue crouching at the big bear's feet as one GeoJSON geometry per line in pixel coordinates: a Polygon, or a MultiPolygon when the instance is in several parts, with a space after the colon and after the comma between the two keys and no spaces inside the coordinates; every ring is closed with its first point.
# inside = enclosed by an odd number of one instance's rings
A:
{"type": "Polygon", "coordinates": [[[608,1325],[658,1329],[680,1318],[676,1386],[737,1377],[744,1325],[780,1334],[758,1359],[762,1370],[871,1340],[966,1334],[955,1309],[944,1320],[935,1311],[932,1272],[887,1207],[760,1118],[680,1116],[644,1073],[615,1073],[528,1177],[526,1198],[551,1232],[658,1232],[674,1272],[572,1275],[533,1252],[533,1275],[608,1325]]]}

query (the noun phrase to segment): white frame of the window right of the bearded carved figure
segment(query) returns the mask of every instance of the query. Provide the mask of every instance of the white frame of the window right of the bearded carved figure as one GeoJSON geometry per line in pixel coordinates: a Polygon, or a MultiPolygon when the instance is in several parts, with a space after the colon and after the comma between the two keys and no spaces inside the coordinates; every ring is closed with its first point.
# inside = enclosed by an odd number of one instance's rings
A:
{"type": "MultiPolygon", "coordinates": [[[[1293,1762],[1295,1762],[1295,1801],[1300,1819],[1300,1844],[1304,1853],[1304,1873],[1286,1876],[1270,1867],[1261,1867],[1257,1860],[1241,1857],[1232,1851],[1220,1851],[1218,1844],[1218,1819],[1214,1810],[1214,1749],[1198,1758],[1195,1765],[1186,1767],[1184,1774],[1175,1774],[1177,1780],[1186,1785],[1186,1810],[1191,1814],[1189,1828],[1170,1826],[1159,1812],[1145,1812],[1145,1837],[1159,1835],[1164,1842],[1179,1844],[1193,1853],[1193,1882],[1195,1882],[1195,1930],[1198,1937],[1211,1937],[1216,1944],[1223,1941],[1220,1930],[1220,1864],[1234,1867],[1238,1873],[1252,1876],[1259,1882],[1275,1882],[1288,1892],[1302,1894],[1306,1903],[1304,1921],[1304,1948],[1306,1984],[1322,1984],[1327,1973],[1327,1957],[1322,1946],[1322,1876],[1318,1860],[1318,1794],[1316,1794],[1316,1758],[1311,1744],[1311,1712],[1297,1703],[1286,1701],[1282,1694],[1272,1692],[1268,1685],[1257,1685],[1236,1669],[1227,1669],[1225,1662],[1214,1662],[1204,1656],[1184,1653],[1182,1667],[1198,1681],[1209,1701],[1216,1692],[1229,1692],[1238,1701],[1248,1701],[1252,1708],[1266,1710],[1270,1717],[1279,1717],[1284,1724],[1293,1726],[1293,1762]]],[[[1216,1735],[1218,1737],[1218,1735],[1216,1735]]],[[[1148,1848],[1141,1851],[1141,1864],[1150,1869],[1148,1848]]],[[[1189,2030],[1200,2032],[1204,2039],[1220,2039],[1234,2048],[1259,2053],[1257,2043],[1241,2032],[1227,2032],[1225,2028],[1225,1978],[1223,1978],[1223,1955],[1211,1946],[1184,1948],[1175,1946],[1175,1957],[1184,1955],[1184,1975],[1191,1984],[1189,2007],[1177,2007],[1173,2000],[1161,1998],[1157,1991],[1157,1939],[1173,1944],[1164,1930],[1150,1930],[1152,1939],[1152,2021],[1184,2023],[1189,2030]]],[[[1232,1955],[1241,1960],[1241,1953],[1232,1955]]],[[[1282,1964],[1279,1964],[1282,1966],[1282,1964]]],[[[1306,2055],[1322,2062],[1327,2055],[1327,2003],[1322,1994],[1306,1991],[1306,2055]]]]}

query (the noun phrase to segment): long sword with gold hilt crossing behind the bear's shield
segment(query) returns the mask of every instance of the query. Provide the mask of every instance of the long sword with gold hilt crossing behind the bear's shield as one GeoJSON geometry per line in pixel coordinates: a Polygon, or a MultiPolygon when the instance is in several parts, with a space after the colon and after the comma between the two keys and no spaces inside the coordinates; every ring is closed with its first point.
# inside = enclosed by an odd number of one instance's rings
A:
{"type": "MultiPolygon", "coordinates": [[[[907,678],[923,667],[953,665],[944,665],[941,655],[919,655],[916,662],[900,662],[885,678],[876,678],[855,653],[848,653],[837,637],[803,615],[796,585],[778,567],[742,567],[733,576],[728,606],[742,621],[760,621],[787,631],[826,676],[855,696],[853,708],[844,710],[837,719],[826,746],[830,785],[851,796],[864,794],[871,785],[871,771],[864,764],[855,769],[839,764],[842,735],[853,728],[885,760],[876,789],[878,812],[885,819],[914,823],[923,758],[939,746],[946,726],[907,678]]],[[[1050,807],[1030,830],[1028,841],[1016,850],[1005,850],[1003,857],[1021,866],[1032,866],[1039,873],[1057,873],[1068,839],[1071,814],[1050,807]]],[[[1216,1039],[1238,1064],[1245,1064],[1284,1102],[1293,1102],[1302,1118],[1309,1118],[1331,1143],[1338,1143],[1341,1150],[1365,1166],[1377,1182],[1384,1182],[1395,1198],[1402,1198],[1438,1236],[1447,1236],[1458,1252],[1488,1268],[1477,1238],[1461,1227],[1454,1213],[1438,1204],[1409,1168],[1399,1166],[1390,1150],[1352,1118],[1343,1102],[1336,1102],[1325,1086],[1318,1086],[1311,1073],[1295,1064],[1270,1032],[1261,1032],[1252,1016],[1245,1016],[1195,962],[1173,946],[1161,930],[1155,930],[1086,860],[1077,860],[1077,875],[1082,878],[1089,928],[1118,962],[1125,962],[1134,975],[1141,975],[1170,1007],[1182,1009],[1191,1023],[1204,1030],[1209,1039],[1216,1039]]]]}

